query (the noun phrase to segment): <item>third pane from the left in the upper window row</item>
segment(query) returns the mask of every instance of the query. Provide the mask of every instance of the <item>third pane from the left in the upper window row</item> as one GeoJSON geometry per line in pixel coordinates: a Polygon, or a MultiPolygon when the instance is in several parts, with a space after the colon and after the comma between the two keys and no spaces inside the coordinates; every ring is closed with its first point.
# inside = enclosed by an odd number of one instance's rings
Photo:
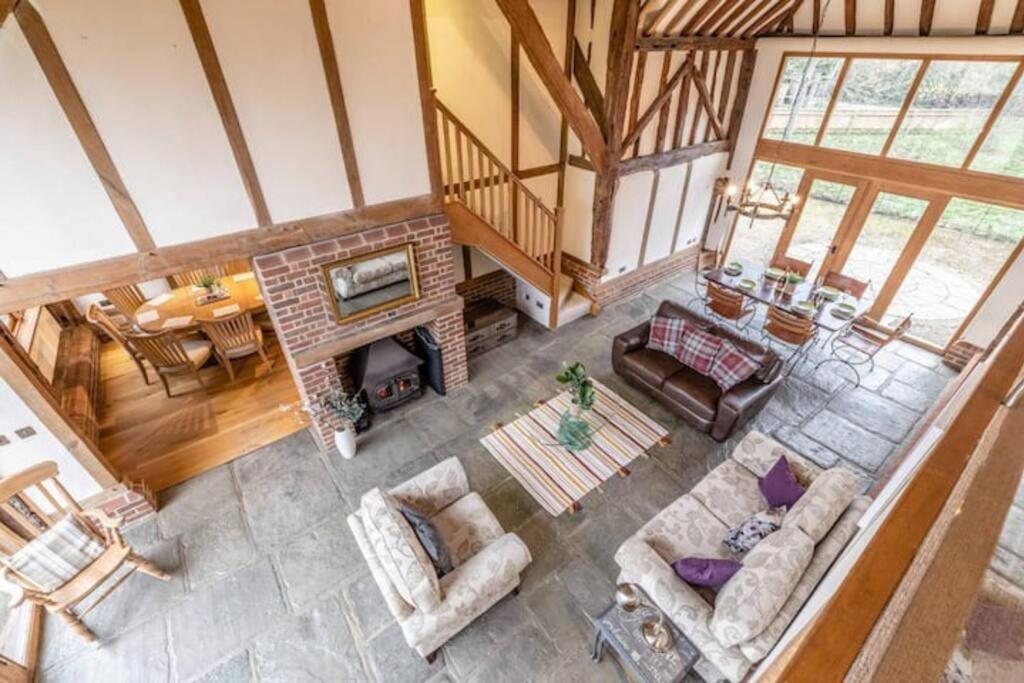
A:
{"type": "Polygon", "coordinates": [[[1016,68],[1009,61],[933,61],[889,155],[963,165],[1016,68]]]}

